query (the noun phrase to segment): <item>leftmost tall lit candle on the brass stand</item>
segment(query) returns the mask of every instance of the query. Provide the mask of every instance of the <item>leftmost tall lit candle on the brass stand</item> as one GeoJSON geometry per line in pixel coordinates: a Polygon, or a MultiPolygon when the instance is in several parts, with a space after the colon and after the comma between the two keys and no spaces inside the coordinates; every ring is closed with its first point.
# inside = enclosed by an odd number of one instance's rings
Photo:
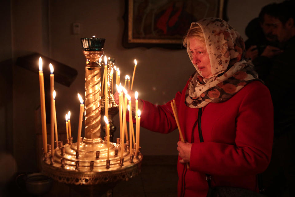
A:
{"type": "Polygon", "coordinates": [[[45,113],[45,93],[42,58],[39,58],[39,85],[40,85],[40,105],[41,105],[41,124],[42,141],[44,153],[47,153],[47,131],[46,131],[46,113],[45,113]]]}

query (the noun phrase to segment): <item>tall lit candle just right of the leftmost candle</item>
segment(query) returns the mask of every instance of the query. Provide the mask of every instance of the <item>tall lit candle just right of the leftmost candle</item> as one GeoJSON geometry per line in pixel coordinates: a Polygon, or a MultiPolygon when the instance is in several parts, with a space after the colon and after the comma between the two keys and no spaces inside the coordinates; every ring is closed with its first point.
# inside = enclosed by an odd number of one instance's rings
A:
{"type": "MultiPolygon", "coordinates": [[[[54,74],[53,74],[53,66],[50,63],[50,95],[53,95],[54,90],[54,74]]],[[[53,96],[50,99],[51,113],[50,113],[50,139],[51,139],[51,155],[54,155],[54,108],[53,108],[53,96]]]]}

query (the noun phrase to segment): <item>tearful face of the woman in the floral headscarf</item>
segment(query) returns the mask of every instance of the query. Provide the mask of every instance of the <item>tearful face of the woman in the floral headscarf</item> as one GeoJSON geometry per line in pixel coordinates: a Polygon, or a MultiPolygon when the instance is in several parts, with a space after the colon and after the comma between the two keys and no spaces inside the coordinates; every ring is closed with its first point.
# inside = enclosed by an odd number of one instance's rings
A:
{"type": "Polygon", "coordinates": [[[205,78],[212,77],[213,75],[211,72],[210,59],[206,49],[206,44],[197,38],[190,38],[189,46],[192,62],[197,65],[197,69],[200,71],[199,73],[201,73],[205,78]]]}

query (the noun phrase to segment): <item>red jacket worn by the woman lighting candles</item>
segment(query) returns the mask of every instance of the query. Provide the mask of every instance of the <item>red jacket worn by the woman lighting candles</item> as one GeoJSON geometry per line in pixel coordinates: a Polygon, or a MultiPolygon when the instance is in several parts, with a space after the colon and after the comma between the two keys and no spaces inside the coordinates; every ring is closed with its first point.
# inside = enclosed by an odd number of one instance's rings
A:
{"type": "MultiPolygon", "coordinates": [[[[178,196],[206,196],[205,174],[211,175],[212,187],[258,191],[256,175],[268,166],[273,143],[273,104],[267,87],[254,81],[228,101],[203,107],[204,142],[200,143],[198,124],[195,124],[199,109],[184,103],[187,85],[176,94],[175,101],[183,136],[191,143],[193,133],[194,142],[190,168],[177,165],[178,196]]],[[[174,131],[177,125],[170,102],[155,106],[144,101],[140,126],[160,133],[174,131]]]]}

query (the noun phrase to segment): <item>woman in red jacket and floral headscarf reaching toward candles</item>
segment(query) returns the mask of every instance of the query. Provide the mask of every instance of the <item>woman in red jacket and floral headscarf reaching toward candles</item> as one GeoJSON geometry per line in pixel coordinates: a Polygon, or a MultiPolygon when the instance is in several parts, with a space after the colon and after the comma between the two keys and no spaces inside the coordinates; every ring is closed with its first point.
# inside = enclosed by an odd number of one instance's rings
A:
{"type": "MultiPolygon", "coordinates": [[[[196,72],[175,96],[187,141],[177,143],[178,196],[206,196],[208,178],[213,188],[258,192],[256,175],[268,166],[273,142],[269,90],[243,58],[244,41],[227,22],[205,18],[192,23],[183,43],[196,72]]],[[[177,128],[170,102],[139,103],[140,126],[160,133],[177,128]]]]}

